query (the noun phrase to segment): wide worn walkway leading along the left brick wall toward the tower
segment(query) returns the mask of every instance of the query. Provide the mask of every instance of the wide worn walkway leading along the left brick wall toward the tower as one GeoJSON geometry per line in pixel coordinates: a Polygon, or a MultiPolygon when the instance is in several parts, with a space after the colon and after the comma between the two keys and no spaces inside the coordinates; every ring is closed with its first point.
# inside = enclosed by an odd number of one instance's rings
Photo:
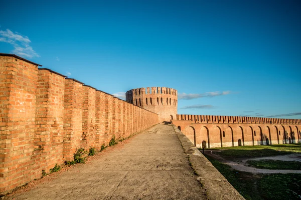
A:
{"type": "Polygon", "coordinates": [[[30,191],[4,199],[205,199],[172,125],[158,124],[30,191]]]}

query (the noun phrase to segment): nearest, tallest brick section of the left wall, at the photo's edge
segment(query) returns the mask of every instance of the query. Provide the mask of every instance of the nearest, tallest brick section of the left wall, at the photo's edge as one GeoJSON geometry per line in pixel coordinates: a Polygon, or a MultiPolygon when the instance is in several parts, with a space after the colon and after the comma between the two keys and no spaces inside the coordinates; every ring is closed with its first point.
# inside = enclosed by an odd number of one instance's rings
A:
{"type": "Polygon", "coordinates": [[[0,56],[0,192],[37,177],[34,136],[38,66],[0,56]]]}

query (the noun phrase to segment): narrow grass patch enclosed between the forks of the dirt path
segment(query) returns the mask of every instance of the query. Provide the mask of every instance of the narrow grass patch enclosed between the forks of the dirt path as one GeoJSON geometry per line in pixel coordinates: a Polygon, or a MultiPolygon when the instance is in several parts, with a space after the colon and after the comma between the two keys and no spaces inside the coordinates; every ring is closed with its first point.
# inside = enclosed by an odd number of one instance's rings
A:
{"type": "Polygon", "coordinates": [[[261,159],[261,160],[248,160],[247,163],[256,168],[301,170],[301,162],[298,161],[261,159]]]}

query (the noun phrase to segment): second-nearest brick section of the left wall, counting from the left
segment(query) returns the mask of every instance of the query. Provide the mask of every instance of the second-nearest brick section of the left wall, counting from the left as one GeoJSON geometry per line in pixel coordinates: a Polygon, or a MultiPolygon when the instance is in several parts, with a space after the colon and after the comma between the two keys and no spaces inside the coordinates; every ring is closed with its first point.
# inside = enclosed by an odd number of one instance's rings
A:
{"type": "Polygon", "coordinates": [[[38,71],[36,92],[35,163],[48,171],[63,161],[65,78],[46,69],[38,71]]]}

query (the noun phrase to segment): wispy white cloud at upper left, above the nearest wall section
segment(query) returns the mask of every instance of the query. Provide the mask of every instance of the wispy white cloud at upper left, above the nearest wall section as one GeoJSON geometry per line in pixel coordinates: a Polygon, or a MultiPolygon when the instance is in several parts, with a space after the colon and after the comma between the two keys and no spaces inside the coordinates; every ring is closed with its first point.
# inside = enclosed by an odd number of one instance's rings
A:
{"type": "Polygon", "coordinates": [[[10,29],[0,30],[0,41],[10,43],[14,46],[12,53],[21,57],[40,57],[40,55],[29,45],[31,40],[28,36],[22,36],[19,32],[10,29]]]}

